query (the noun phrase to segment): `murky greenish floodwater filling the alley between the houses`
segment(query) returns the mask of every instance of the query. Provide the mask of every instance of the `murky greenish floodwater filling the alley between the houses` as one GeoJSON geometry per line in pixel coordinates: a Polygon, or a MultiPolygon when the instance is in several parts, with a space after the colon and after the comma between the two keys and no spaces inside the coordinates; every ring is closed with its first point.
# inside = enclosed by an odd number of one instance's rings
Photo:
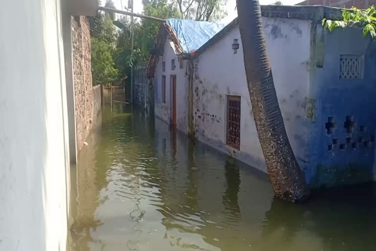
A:
{"type": "Polygon", "coordinates": [[[274,197],[265,174],[131,106],[102,109],[71,170],[71,251],[375,251],[376,187],[274,197]]]}

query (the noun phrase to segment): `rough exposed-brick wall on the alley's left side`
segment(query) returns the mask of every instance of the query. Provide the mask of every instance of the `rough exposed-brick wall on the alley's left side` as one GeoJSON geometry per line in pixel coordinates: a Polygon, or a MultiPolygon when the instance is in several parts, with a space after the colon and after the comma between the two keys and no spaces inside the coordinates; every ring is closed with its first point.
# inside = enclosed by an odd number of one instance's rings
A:
{"type": "Polygon", "coordinates": [[[71,18],[73,80],[76,115],[77,152],[84,145],[93,125],[93,84],[90,26],[86,17],[71,18]]]}

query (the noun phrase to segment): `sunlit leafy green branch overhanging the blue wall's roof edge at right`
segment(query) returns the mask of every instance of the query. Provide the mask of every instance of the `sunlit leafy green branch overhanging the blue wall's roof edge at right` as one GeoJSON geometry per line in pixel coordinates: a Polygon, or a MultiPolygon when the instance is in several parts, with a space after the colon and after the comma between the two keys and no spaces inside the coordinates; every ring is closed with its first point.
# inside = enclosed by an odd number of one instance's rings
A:
{"type": "Polygon", "coordinates": [[[370,34],[372,39],[376,40],[376,9],[374,6],[366,10],[359,10],[352,7],[350,10],[344,9],[342,11],[342,20],[328,20],[323,19],[322,25],[324,29],[329,31],[341,27],[346,29],[351,26],[358,26],[363,28],[363,35],[370,34]]]}

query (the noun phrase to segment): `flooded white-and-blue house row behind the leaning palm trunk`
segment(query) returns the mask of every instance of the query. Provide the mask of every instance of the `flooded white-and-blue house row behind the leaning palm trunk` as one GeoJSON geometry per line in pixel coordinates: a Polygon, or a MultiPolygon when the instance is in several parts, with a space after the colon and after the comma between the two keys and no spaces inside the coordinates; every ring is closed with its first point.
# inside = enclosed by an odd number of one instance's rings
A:
{"type": "MultiPolygon", "coordinates": [[[[284,124],[307,183],[374,179],[376,44],[358,28],[324,32],[321,20],[341,16],[341,9],[270,5],[261,11],[284,124]]],[[[155,116],[266,172],[237,19],[217,32],[220,26],[203,23],[214,28],[198,48],[189,48],[187,38],[201,39],[195,37],[201,22],[192,29],[186,22],[194,21],[164,24],[149,61],[155,116]]]]}

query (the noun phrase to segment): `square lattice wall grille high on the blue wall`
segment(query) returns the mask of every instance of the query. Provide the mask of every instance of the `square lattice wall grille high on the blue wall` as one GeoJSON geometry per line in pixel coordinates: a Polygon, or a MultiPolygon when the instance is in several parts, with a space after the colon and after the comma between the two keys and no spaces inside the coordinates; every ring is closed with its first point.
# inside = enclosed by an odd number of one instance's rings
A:
{"type": "Polygon", "coordinates": [[[340,56],[340,79],[363,78],[363,56],[341,55],[340,56]]]}

